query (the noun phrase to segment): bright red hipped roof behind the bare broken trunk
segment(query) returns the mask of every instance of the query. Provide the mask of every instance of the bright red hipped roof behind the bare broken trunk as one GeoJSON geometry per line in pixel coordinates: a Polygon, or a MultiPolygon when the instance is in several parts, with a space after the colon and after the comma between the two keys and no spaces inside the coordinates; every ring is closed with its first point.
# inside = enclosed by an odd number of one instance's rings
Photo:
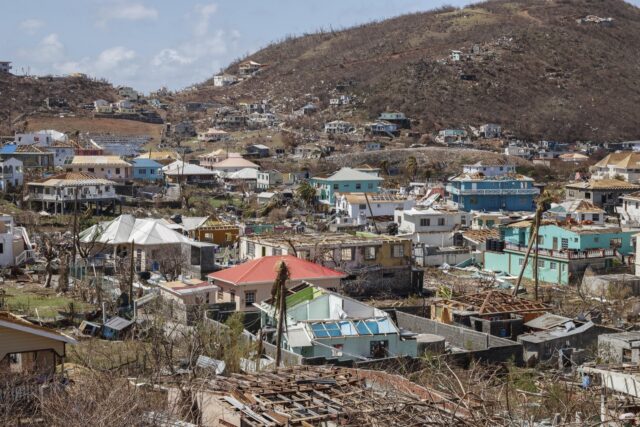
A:
{"type": "Polygon", "coordinates": [[[292,255],[266,256],[247,261],[235,267],[210,273],[209,278],[234,285],[249,283],[273,283],[276,280],[276,266],[284,261],[289,268],[290,280],[328,279],[347,275],[320,264],[306,261],[292,255]]]}

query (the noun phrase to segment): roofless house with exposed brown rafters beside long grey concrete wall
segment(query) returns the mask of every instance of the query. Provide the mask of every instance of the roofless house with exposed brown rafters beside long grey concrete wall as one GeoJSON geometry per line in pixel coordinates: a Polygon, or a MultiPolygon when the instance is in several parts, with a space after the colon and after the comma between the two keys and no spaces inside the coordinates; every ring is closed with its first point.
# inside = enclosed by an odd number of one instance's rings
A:
{"type": "Polygon", "coordinates": [[[549,310],[550,307],[541,302],[490,290],[436,299],[431,304],[430,316],[441,323],[515,340],[524,332],[526,322],[549,310]]]}

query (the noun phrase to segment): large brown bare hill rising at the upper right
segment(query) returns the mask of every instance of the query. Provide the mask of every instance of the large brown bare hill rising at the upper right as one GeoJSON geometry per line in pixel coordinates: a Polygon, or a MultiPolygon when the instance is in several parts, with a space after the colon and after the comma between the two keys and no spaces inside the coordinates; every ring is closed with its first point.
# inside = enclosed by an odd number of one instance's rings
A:
{"type": "Polygon", "coordinates": [[[400,110],[422,131],[496,122],[522,138],[631,139],[638,45],[640,9],[621,0],[490,1],[290,38],[247,58],[269,64],[256,77],[224,89],[207,81],[190,96],[299,108],[311,95],[326,107],[351,81],[363,119],[400,110]],[[587,15],[613,25],[576,22],[587,15]],[[468,60],[449,58],[474,46],[468,60]]]}

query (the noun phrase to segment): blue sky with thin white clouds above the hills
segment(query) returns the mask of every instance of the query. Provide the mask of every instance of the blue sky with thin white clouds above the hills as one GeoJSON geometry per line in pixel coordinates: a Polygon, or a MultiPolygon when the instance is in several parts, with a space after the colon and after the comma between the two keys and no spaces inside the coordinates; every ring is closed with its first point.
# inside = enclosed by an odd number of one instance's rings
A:
{"type": "MultiPolygon", "coordinates": [[[[148,92],[200,82],[269,42],[465,0],[5,0],[14,73],[83,72],[148,92]]],[[[638,4],[640,0],[633,3],[638,4]]]]}

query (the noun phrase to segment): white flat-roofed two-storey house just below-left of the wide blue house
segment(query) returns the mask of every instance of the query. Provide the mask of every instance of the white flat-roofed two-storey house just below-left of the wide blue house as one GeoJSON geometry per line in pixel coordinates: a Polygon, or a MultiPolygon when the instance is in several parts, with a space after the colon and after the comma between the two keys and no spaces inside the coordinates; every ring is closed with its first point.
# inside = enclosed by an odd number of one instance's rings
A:
{"type": "Polygon", "coordinates": [[[469,212],[434,208],[396,210],[394,217],[399,236],[428,246],[453,245],[454,231],[471,222],[469,212]]]}

